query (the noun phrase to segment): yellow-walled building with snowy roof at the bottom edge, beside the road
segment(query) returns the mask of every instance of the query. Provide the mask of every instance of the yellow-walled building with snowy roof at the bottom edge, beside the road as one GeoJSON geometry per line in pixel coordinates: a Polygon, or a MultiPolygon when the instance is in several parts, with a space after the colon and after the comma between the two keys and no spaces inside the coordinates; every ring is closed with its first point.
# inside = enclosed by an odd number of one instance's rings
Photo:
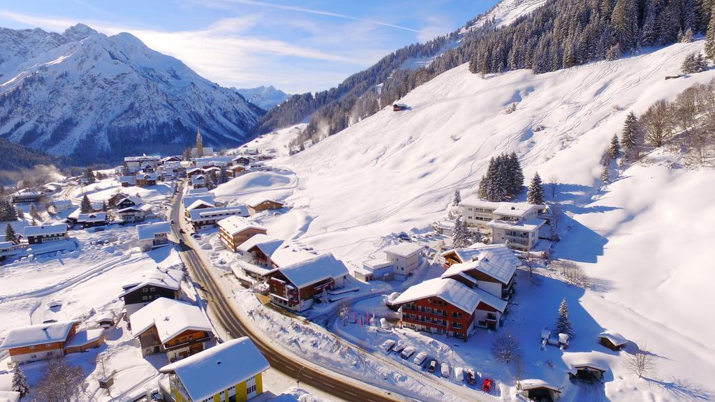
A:
{"type": "Polygon", "coordinates": [[[159,369],[169,375],[172,401],[249,401],[263,393],[270,368],[250,338],[225,343],[159,369]]]}

